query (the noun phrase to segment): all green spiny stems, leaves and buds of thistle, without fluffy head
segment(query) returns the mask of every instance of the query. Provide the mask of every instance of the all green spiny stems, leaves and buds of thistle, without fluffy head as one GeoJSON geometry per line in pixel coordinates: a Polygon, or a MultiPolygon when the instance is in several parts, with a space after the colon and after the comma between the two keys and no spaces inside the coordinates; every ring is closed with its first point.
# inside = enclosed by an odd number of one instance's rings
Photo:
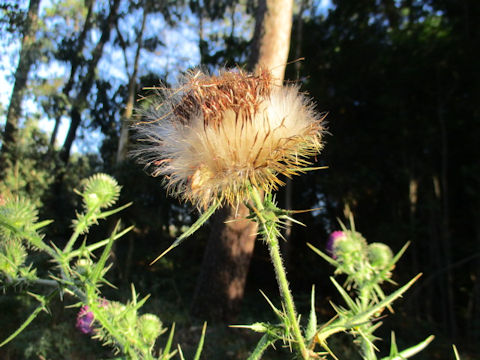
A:
{"type": "MultiPolygon", "coordinates": [[[[252,204],[249,205],[250,217],[259,223],[260,233],[269,247],[282,295],[282,306],[281,308],[276,307],[273,301],[265,296],[278,323],[256,322],[253,325],[244,326],[264,334],[249,358],[262,358],[265,351],[277,342],[288,345],[303,359],[325,357],[327,354],[334,357],[327,340],[339,332],[348,332],[359,346],[361,356],[364,359],[376,360],[374,342],[377,337],[374,335],[374,331],[381,325],[377,319],[381,316],[382,311],[390,308],[391,303],[416,280],[416,278],[411,280],[390,295],[385,295],[379,286],[382,282],[390,280],[391,270],[406,247],[393,256],[390,248],[385,244],[372,243],[368,245],[366,240],[354,230],[353,222],[352,230],[347,230],[342,225],[343,235],[332,244],[334,258],[312,247],[315,252],[336,267],[337,274],[346,275],[344,286],[347,289],[353,289],[356,297],[351,297],[344,287],[332,278],[346,307],[332,304],[337,313],[336,317],[327,323],[318,324],[314,289],[312,289],[308,324],[306,329],[302,330],[278,249],[279,225],[289,218],[291,212],[278,208],[271,195],[267,194],[265,200],[262,200],[254,188],[250,190],[252,195],[252,204]],[[320,351],[316,349],[317,346],[320,347],[320,351]]],[[[98,220],[107,218],[128,206],[127,204],[109,209],[119,197],[120,186],[110,176],[96,174],[84,180],[81,190],[76,192],[82,198],[83,212],[77,215],[73,234],[63,249],[53,243],[49,245],[43,240],[40,229],[49,222],[38,221],[38,212],[31,202],[20,197],[7,198],[0,207],[0,279],[2,286],[8,289],[12,284],[22,282],[24,287],[32,289],[36,285],[47,285],[53,288],[53,291],[47,295],[29,293],[38,302],[36,309],[0,345],[5,345],[21,334],[42,311],[47,310],[53,297],[60,293],[62,297],[76,300],[72,303],[73,306],[83,305],[77,318],[77,327],[85,333],[92,334],[92,337],[99,340],[104,346],[113,348],[115,354],[132,360],[171,358],[175,354],[175,351],[170,350],[171,335],[163,350],[157,351],[156,349],[157,338],[166,331],[158,316],[149,313],[139,314],[139,310],[145,304],[148,296],[139,300],[132,286],[131,300],[123,304],[105,299],[100,292],[102,284],[109,284],[105,275],[110,268],[107,260],[112,245],[131,228],[120,230],[117,223],[109,238],[90,245],[87,245],[85,241],[78,245],[79,236],[87,233],[93,224],[98,223],[98,220]],[[29,247],[45,252],[56,263],[58,272],[52,272],[51,279],[37,277],[34,264],[26,265],[25,260],[29,247]],[[102,248],[100,256],[95,257],[94,252],[102,248]]],[[[210,212],[207,212],[205,216],[210,216],[210,212]]],[[[203,222],[204,219],[201,217],[199,224],[194,224],[185,234],[193,233],[203,222]]],[[[204,336],[205,327],[194,359],[200,357],[204,336]]],[[[47,333],[42,336],[43,340],[41,341],[46,339],[48,341],[48,338],[47,333]]],[[[395,340],[392,338],[390,356],[385,360],[408,358],[425,348],[432,338],[429,337],[420,344],[402,351],[398,351],[395,340]]],[[[63,345],[55,344],[56,349],[63,347],[69,347],[68,341],[63,345]]],[[[39,346],[37,355],[44,356],[50,351],[53,350],[43,344],[39,346]]],[[[28,351],[26,352],[28,353],[28,351]]],[[[178,355],[184,359],[181,348],[178,348],[178,355]]]]}

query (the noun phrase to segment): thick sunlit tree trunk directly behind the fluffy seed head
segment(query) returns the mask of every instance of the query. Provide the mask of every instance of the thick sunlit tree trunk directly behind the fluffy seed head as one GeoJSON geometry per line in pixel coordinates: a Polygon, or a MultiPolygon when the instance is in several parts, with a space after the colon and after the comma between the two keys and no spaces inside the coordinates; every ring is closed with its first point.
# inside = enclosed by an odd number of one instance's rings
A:
{"type": "MultiPolygon", "coordinates": [[[[290,48],[292,8],[293,0],[259,1],[249,61],[252,70],[270,69],[280,85],[290,48]]],[[[238,314],[257,232],[257,225],[245,219],[247,214],[244,205],[215,214],[192,302],[193,315],[228,322],[238,314]]]]}

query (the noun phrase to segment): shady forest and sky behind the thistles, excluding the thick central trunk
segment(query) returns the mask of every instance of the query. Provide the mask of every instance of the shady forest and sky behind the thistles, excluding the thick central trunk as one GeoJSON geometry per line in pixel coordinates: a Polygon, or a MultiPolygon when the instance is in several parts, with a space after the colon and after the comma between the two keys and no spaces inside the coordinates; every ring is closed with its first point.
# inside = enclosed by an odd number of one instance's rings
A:
{"type": "MultiPolygon", "coordinates": [[[[203,321],[190,306],[210,227],[149,265],[198,213],[167,198],[160,179],[128,159],[127,125],[144,87],[169,86],[195,66],[245,66],[256,7],[253,0],[0,1],[1,193],[34,199],[42,219],[55,219],[49,237],[62,243],[78,205],[73,188],[95,172],[115,176],[121,202],[134,202],[120,217],[135,231],[112,253],[119,289],[105,291],[126,298],[135,283],[152,295],[149,310],[176,322],[187,343],[203,321]]],[[[293,209],[319,208],[297,216],[307,227],[293,226],[283,249],[299,312],[315,284],[319,313],[333,315],[332,269],[306,242],[322,248],[337,219],[353,214],[369,242],[398,251],[410,241],[395,269],[399,284],[423,273],[384,320],[383,343],[393,328],[399,345],[436,335],[419,359],[453,358],[453,343],[466,359],[480,356],[480,2],[298,0],[289,58],[285,81],[328,112],[329,131],[316,159],[328,169],[293,179],[291,196],[278,194],[293,209]]],[[[277,294],[261,243],[235,323],[271,316],[258,289],[277,294]]],[[[29,305],[14,291],[0,296],[2,339],[29,305]]],[[[75,333],[73,310],[57,305],[0,349],[3,356],[92,358],[98,349],[75,333]]],[[[209,329],[207,349],[217,357],[207,350],[206,358],[245,357],[247,335],[219,319],[209,329]]]]}

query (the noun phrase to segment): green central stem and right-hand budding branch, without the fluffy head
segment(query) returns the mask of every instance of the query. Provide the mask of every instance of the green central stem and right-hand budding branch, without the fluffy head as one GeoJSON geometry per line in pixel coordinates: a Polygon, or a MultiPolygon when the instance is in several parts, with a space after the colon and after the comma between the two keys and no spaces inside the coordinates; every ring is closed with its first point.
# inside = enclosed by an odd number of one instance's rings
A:
{"type": "MultiPolygon", "coordinates": [[[[331,278],[347,307],[332,304],[336,316],[324,324],[317,324],[314,290],[312,289],[311,309],[308,324],[303,334],[278,251],[278,237],[280,235],[278,229],[281,226],[281,217],[287,216],[288,212],[279,209],[269,194],[265,196],[265,200],[262,202],[255,189],[252,189],[251,192],[253,205],[250,206],[250,216],[259,223],[260,234],[269,247],[282,296],[282,309],[276,308],[267,298],[278,317],[279,324],[256,323],[247,326],[254,331],[265,334],[249,359],[260,359],[265,349],[270,345],[273,346],[278,340],[288,344],[289,348],[294,349],[297,356],[302,359],[326,355],[322,351],[316,352],[315,347],[317,345],[336,359],[335,354],[328,347],[327,339],[336,333],[348,332],[354,337],[354,342],[358,344],[362,358],[376,360],[377,348],[374,342],[378,338],[374,335],[374,331],[381,325],[378,318],[381,316],[383,309],[391,309],[392,302],[398,299],[418,278],[418,276],[415,277],[388,296],[380,288],[380,284],[390,281],[391,271],[405,251],[406,246],[396,256],[392,256],[392,251],[385,244],[373,243],[368,245],[367,241],[355,231],[353,220],[351,220],[351,230],[347,230],[342,224],[343,232],[340,236],[333,238],[332,253],[334,258],[310,246],[316,253],[336,267],[336,274],[347,276],[343,287],[334,278],[331,278]],[[354,289],[356,297],[352,298],[345,289],[354,289]]],[[[392,342],[392,349],[395,350],[391,350],[390,357],[385,359],[397,359],[397,356],[403,356],[404,358],[413,356],[432,340],[433,336],[402,352],[398,352],[395,343],[392,342]]]]}

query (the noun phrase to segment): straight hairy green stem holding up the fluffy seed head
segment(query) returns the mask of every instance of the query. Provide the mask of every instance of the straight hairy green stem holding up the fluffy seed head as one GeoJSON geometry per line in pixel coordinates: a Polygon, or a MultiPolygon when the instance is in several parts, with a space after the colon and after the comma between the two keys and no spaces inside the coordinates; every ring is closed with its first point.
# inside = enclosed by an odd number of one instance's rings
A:
{"type": "MultiPolygon", "coordinates": [[[[258,190],[254,187],[250,187],[250,194],[254,202],[254,211],[258,222],[263,228],[264,240],[267,243],[268,250],[270,252],[270,258],[272,259],[273,267],[277,277],[277,283],[280,288],[280,294],[285,304],[285,311],[287,312],[287,316],[290,321],[294,339],[297,342],[297,347],[300,350],[302,358],[308,360],[310,356],[308,355],[308,349],[305,345],[305,339],[300,331],[300,325],[298,323],[292,293],[288,286],[287,275],[280,254],[280,246],[278,244],[278,224],[275,221],[267,221],[265,219],[265,212],[269,210],[266,210],[263,206],[258,190]]],[[[270,216],[268,216],[268,218],[270,218],[270,216]]]]}

